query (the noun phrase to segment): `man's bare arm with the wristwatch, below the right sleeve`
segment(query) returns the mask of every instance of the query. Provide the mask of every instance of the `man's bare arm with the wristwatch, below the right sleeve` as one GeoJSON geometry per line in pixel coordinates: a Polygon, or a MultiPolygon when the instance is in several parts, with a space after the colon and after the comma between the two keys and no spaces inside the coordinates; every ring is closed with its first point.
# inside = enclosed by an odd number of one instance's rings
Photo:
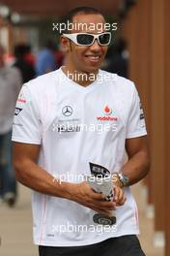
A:
{"type": "MultiPolygon", "coordinates": [[[[147,144],[147,136],[127,139],[126,150],[128,153],[128,162],[120,173],[128,177],[129,186],[137,183],[149,173],[150,154],[147,144]]],[[[124,186],[120,178],[116,180],[118,186],[124,186]]]]}

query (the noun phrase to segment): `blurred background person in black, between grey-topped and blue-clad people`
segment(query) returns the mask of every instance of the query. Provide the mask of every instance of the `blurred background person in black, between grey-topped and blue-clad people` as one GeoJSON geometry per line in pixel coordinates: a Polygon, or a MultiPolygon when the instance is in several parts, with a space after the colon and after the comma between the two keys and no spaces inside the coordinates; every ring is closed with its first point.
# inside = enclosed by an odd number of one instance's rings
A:
{"type": "Polygon", "coordinates": [[[33,80],[36,76],[34,66],[27,60],[27,56],[28,46],[26,44],[19,44],[14,47],[14,67],[20,70],[23,83],[33,80]]]}

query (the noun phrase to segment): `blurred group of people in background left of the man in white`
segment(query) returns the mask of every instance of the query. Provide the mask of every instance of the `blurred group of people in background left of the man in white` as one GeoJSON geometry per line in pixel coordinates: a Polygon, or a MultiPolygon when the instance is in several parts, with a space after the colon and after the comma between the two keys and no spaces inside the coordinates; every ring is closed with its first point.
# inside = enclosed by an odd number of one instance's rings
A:
{"type": "Polygon", "coordinates": [[[48,41],[37,56],[31,46],[18,44],[10,58],[0,46],[0,203],[14,207],[17,184],[12,164],[12,125],[17,95],[23,83],[59,68],[63,54],[48,41]],[[10,60],[10,61],[9,61],[10,60]]]}

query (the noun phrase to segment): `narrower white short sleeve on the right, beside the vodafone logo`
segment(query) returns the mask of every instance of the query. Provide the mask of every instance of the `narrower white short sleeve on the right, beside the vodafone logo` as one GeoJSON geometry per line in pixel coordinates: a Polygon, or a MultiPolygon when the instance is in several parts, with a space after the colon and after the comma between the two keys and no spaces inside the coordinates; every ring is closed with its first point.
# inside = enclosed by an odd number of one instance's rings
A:
{"type": "Polygon", "coordinates": [[[127,139],[147,135],[144,112],[139,94],[134,86],[131,108],[128,114],[127,139]]]}

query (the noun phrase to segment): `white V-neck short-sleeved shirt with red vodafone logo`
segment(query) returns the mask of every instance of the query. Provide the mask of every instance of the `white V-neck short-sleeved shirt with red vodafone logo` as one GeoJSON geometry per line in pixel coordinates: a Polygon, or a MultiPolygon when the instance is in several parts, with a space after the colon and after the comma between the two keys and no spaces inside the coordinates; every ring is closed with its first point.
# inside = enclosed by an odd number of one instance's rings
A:
{"type": "MultiPolygon", "coordinates": [[[[41,144],[39,165],[65,181],[89,176],[89,162],[119,172],[126,139],[146,134],[133,82],[101,70],[87,87],[56,70],[24,84],[17,99],[13,141],[41,144]]],[[[128,200],[116,209],[112,227],[95,224],[90,208],[33,191],[35,243],[77,246],[138,234],[136,203],[124,189],[128,200]]]]}

